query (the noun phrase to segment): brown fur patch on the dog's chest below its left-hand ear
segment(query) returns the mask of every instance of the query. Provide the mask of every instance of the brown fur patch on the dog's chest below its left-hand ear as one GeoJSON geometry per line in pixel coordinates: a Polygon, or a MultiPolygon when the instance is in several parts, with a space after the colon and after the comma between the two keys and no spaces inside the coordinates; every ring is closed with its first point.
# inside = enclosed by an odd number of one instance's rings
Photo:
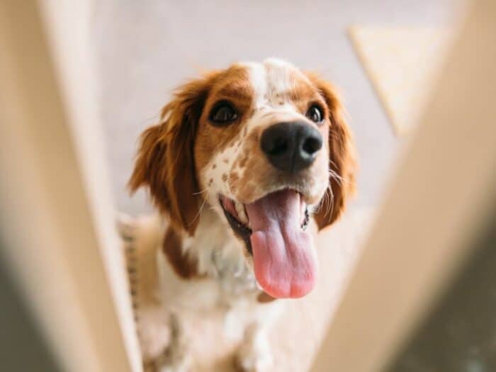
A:
{"type": "Polygon", "coordinates": [[[201,278],[198,262],[182,251],[182,240],[173,227],[169,227],[164,237],[163,252],[174,272],[183,279],[201,278]]]}

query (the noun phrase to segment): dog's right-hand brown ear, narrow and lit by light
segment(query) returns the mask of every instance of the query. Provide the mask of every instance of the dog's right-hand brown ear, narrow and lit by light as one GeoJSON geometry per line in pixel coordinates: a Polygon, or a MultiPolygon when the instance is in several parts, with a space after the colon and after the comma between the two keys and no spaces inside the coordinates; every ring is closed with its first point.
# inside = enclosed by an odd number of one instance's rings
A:
{"type": "Polygon", "coordinates": [[[344,109],[334,87],[316,74],[307,73],[327,104],[329,119],[329,198],[322,200],[315,220],[319,229],[337,220],[346,201],[355,191],[356,150],[346,121],[344,109]]]}

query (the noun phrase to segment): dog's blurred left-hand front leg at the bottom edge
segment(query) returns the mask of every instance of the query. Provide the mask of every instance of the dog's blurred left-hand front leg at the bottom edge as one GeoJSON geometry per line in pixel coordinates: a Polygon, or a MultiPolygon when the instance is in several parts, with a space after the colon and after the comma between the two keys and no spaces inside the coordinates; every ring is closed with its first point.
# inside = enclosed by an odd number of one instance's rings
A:
{"type": "Polygon", "coordinates": [[[169,320],[170,342],[164,353],[155,361],[157,372],[188,372],[191,368],[191,356],[188,351],[186,334],[178,315],[172,313],[169,320]]]}

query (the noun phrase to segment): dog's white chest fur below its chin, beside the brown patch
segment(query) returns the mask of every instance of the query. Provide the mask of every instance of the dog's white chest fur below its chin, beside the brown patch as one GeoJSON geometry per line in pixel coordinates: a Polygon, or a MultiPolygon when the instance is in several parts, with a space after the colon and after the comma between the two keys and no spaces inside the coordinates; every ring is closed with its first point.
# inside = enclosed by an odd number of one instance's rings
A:
{"type": "Polygon", "coordinates": [[[160,292],[164,303],[171,307],[195,311],[232,308],[247,298],[254,299],[259,291],[244,257],[243,243],[213,213],[205,214],[195,237],[186,238],[183,244],[184,254],[196,259],[203,277],[186,281],[179,278],[159,252],[160,292]]]}

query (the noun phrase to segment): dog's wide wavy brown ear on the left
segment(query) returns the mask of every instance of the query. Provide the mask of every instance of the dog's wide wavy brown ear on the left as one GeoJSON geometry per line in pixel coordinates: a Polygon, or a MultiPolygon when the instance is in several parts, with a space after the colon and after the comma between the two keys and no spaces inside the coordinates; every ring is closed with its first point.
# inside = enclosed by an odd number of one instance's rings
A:
{"type": "Polygon", "coordinates": [[[193,146],[215,72],[179,87],[162,109],[161,123],[145,130],[129,181],[131,192],[150,190],[154,205],[175,227],[193,235],[198,225],[198,180],[193,146]]]}

